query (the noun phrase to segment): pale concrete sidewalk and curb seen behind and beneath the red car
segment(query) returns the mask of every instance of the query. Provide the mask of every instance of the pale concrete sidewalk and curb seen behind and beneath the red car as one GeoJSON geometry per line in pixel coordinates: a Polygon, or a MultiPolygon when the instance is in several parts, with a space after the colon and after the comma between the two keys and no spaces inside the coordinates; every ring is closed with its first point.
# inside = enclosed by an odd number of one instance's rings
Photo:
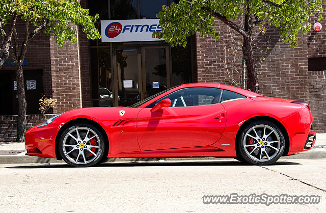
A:
{"type": "MultiPolygon", "coordinates": [[[[316,136],[316,143],[314,146],[314,153],[310,153],[309,155],[317,154],[316,151],[319,151],[319,148],[322,146],[326,146],[326,133],[318,134],[316,136]]],[[[63,161],[57,161],[57,159],[53,158],[43,158],[43,157],[36,157],[36,156],[28,156],[25,155],[25,144],[24,143],[15,143],[15,142],[0,142],[0,164],[15,164],[15,163],[61,163],[63,161]]],[[[307,153],[307,152],[304,152],[307,153]]],[[[298,154],[300,155],[300,154],[298,154]]],[[[295,155],[295,156],[298,156],[295,155]]],[[[292,155],[294,156],[294,155],[292,155]]],[[[320,155],[324,156],[324,154],[320,155]]],[[[291,156],[289,156],[291,157],[291,156]]],[[[292,158],[292,157],[291,157],[292,158]]],[[[187,157],[180,157],[180,158],[171,158],[173,160],[186,160],[186,159],[195,159],[195,158],[187,158],[187,157]]],[[[197,158],[196,158],[197,159],[197,158]]],[[[216,159],[215,157],[202,157],[198,159],[216,159]]],[[[169,160],[169,158],[167,158],[169,160]]],[[[115,161],[139,161],[139,158],[109,158],[108,161],[115,162],[115,161]]]]}

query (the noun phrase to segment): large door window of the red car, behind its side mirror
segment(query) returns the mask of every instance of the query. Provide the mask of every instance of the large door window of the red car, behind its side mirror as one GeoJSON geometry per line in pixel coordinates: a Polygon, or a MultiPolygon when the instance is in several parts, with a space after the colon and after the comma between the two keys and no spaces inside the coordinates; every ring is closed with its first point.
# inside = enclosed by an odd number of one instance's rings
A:
{"type": "Polygon", "coordinates": [[[211,87],[183,88],[160,98],[146,108],[152,108],[156,103],[166,98],[171,100],[171,107],[192,107],[215,104],[219,103],[221,92],[221,89],[211,87]]]}

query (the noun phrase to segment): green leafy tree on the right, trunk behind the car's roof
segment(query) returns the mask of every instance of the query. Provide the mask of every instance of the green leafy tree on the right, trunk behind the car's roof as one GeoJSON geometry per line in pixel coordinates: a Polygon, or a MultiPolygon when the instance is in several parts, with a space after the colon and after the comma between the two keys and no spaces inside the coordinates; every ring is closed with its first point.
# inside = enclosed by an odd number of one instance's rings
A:
{"type": "Polygon", "coordinates": [[[199,32],[212,35],[216,40],[215,19],[228,25],[243,38],[242,54],[246,60],[249,89],[259,93],[258,77],[253,54],[253,29],[257,26],[265,33],[267,25],[279,28],[283,42],[295,47],[299,32],[306,34],[311,28],[310,15],[321,20],[322,0],[180,0],[176,5],[163,6],[157,14],[161,32],[171,46],[186,45],[186,38],[199,32]]]}

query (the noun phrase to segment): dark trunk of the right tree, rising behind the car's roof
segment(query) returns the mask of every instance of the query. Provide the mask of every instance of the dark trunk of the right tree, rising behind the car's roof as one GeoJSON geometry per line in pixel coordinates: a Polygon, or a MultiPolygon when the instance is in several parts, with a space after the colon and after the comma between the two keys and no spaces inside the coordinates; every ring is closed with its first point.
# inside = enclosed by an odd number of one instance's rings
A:
{"type": "Polygon", "coordinates": [[[243,58],[246,61],[248,87],[251,91],[259,94],[258,76],[254,61],[254,53],[251,46],[251,37],[243,36],[242,53],[243,58]]]}

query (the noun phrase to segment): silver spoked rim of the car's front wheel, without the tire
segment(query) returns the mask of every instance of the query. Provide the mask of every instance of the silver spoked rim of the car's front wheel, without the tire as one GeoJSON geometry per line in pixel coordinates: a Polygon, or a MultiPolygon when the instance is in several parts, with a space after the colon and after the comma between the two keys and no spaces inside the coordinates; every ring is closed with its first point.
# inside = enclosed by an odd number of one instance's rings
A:
{"type": "Polygon", "coordinates": [[[88,164],[98,156],[101,141],[96,132],[91,128],[76,127],[68,131],[63,140],[62,148],[70,162],[74,164],[88,164]],[[95,143],[93,139],[96,141],[95,145],[91,144],[91,142],[95,143]]]}

